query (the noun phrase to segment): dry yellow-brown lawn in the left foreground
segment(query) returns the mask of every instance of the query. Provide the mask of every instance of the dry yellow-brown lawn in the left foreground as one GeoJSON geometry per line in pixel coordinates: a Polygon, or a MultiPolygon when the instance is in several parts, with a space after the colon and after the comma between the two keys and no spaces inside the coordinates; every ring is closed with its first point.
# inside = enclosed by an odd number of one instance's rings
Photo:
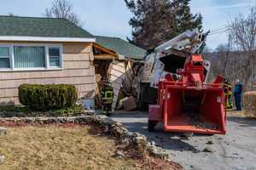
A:
{"type": "Polygon", "coordinates": [[[9,127],[0,136],[4,170],[140,169],[115,158],[113,139],[89,133],[89,127],[9,127]]]}

